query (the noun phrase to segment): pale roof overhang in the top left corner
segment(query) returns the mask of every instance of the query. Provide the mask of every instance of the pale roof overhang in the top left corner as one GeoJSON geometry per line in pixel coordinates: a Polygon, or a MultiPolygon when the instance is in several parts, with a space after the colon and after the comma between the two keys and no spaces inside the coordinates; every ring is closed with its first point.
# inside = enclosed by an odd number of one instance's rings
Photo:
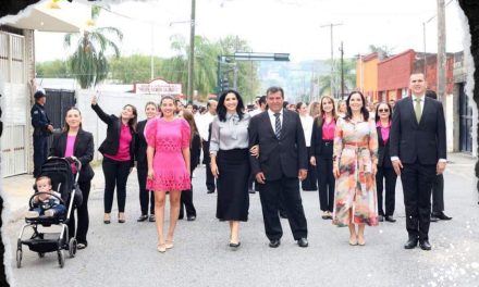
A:
{"type": "Polygon", "coordinates": [[[0,24],[21,29],[36,29],[40,32],[77,33],[85,27],[88,14],[84,16],[77,4],[62,1],[58,8],[51,8],[51,2],[41,2],[30,5],[23,13],[7,16],[0,20],[0,24]]]}

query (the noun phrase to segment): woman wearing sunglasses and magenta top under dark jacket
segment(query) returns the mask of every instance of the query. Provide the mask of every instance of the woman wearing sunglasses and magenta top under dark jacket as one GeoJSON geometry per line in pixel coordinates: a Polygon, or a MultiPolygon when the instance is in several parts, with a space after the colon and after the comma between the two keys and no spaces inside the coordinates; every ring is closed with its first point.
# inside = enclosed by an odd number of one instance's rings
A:
{"type": "Polygon", "coordinates": [[[392,109],[389,103],[381,102],[376,107],[376,128],[378,130],[378,173],[376,190],[378,192],[378,217],[382,222],[395,222],[393,217],[397,175],[394,172],[389,154],[389,135],[391,130],[392,109]],[[385,200],[383,207],[383,183],[385,182],[385,200]]]}

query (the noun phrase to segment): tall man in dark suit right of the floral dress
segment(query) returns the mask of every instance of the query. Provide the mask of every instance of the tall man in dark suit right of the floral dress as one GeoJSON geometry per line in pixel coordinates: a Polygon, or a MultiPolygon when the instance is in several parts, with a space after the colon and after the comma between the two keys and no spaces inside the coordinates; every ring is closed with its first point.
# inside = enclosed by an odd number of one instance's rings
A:
{"type": "Polygon", "coordinates": [[[404,246],[431,250],[429,223],[431,188],[446,165],[445,120],[442,103],[425,97],[425,75],[410,75],[412,96],[396,102],[390,135],[394,171],[401,175],[409,239],[404,246]]]}

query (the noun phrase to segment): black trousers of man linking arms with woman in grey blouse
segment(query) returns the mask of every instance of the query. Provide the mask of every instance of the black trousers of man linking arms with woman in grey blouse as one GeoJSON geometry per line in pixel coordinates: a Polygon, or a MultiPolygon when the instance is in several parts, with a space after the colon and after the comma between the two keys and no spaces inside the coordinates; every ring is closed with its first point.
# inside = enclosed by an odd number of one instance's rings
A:
{"type": "Polygon", "coordinates": [[[283,203],[294,239],[298,240],[308,236],[305,211],[299,195],[299,179],[297,177],[282,177],[272,182],[267,180],[265,189],[259,192],[259,197],[268,239],[280,239],[283,236],[283,229],[278,215],[280,197],[284,199],[283,203]]]}

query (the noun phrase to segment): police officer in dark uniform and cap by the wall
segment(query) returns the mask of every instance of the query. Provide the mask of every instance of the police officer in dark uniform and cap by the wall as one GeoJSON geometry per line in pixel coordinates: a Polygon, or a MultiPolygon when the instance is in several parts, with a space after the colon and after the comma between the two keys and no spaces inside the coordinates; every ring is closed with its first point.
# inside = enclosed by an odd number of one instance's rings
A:
{"type": "Polygon", "coordinates": [[[53,126],[45,112],[44,104],[47,101],[45,91],[36,91],[34,98],[35,104],[32,107],[30,115],[34,127],[34,177],[37,177],[40,175],[41,165],[47,161],[47,139],[53,133],[53,126]]]}

